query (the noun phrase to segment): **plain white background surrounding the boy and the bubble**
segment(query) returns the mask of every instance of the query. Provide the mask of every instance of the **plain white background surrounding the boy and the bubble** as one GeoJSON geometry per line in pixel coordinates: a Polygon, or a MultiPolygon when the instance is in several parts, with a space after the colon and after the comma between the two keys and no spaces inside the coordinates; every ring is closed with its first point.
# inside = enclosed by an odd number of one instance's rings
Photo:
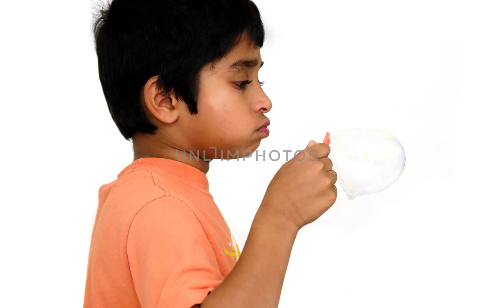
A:
{"type": "MultiPolygon", "coordinates": [[[[258,151],[375,128],[407,156],[386,190],[349,201],[337,185],[299,232],[279,307],[490,307],[489,1],[255,2],[273,102],[258,151]]],[[[82,307],[97,190],[133,160],[99,83],[91,11],[2,3],[3,307],[82,307]]],[[[211,163],[241,248],[283,158],[211,163]]]]}

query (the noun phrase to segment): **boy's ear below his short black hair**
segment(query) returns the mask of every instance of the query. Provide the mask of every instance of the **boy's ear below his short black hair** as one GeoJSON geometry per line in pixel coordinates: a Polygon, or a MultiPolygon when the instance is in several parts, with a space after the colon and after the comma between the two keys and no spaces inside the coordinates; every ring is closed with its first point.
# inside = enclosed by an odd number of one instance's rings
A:
{"type": "Polygon", "coordinates": [[[171,124],[179,117],[176,108],[178,101],[173,92],[164,94],[164,90],[157,86],[159,76],[153,76],[145,83],[142,90],[143,104],[148,112],[159,121],[171,124]]]}

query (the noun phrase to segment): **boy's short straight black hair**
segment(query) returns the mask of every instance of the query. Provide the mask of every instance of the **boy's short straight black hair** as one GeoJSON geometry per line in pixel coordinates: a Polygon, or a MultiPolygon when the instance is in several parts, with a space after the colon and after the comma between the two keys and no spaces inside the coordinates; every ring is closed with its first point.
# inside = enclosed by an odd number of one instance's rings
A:
{"type": "Polygon", "coordinates": [[[264,25],[251,0],[113,0],[92,24],[99,79],[111,118],[126,140],[155,134],[140,91],[152,76],[197,114],[199,71],[246,33],[263,47],[264,25]]]}

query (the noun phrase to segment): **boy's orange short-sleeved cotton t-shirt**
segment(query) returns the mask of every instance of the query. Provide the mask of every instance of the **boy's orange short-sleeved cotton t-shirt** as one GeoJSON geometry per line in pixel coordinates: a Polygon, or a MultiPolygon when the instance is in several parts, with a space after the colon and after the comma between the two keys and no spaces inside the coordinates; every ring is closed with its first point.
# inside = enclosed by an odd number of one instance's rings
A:
{"type": "Polygon", "coordinates": [[[202,171],[139,158],[99,189],[83,307],[191,308],[239,256],[202,171]]]}

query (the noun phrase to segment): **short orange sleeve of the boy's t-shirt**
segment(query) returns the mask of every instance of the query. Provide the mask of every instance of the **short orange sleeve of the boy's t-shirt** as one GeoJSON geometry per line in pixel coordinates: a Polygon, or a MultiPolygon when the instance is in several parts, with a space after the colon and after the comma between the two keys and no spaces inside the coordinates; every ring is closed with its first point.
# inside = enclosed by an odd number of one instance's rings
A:
{"type": "Polygon", "coordinates": [[[127,253],[142,308],[191,308],[224,280],[201,223],[173,196],[136,214],[127,253]]]}

